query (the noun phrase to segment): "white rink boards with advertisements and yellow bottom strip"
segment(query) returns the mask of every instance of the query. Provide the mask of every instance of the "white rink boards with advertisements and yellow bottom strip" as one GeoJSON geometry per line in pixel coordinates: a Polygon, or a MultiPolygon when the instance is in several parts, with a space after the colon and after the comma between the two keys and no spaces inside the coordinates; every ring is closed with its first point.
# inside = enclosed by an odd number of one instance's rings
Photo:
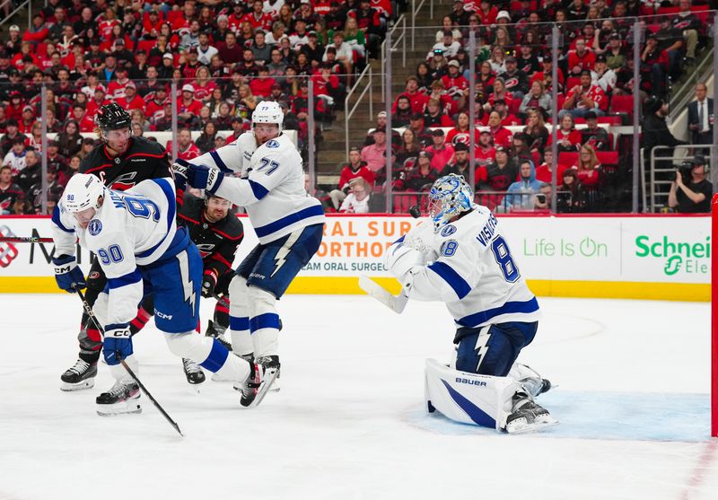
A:
{"type": "MultiPolygon", "coordinates": [[[[257,244],[246,217],[238,263],[257,244]]],[[[710,218],[703,216],[502,216],[512,255],[541,296],[710,300],[710,218]]],[[[321,248],[292,294],[361,294],[357,277],[398,283],[383,251],[419,221],[404,216],[329,215],[321,248]]],[[[0,217],[3,235],[51,236],[48,217],[0,217]]],[[[0,293],[56,292],[51,243],[0,243],[0,293]]],[[[91,256],[80,251],[81,266],[91,256]]]]}

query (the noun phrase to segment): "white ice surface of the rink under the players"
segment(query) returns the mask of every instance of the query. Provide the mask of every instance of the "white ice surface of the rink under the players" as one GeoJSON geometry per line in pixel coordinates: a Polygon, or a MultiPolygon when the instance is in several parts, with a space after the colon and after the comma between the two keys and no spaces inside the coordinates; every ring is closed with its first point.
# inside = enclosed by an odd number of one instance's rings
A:
{"type": "Polygon", "coordinates": [[[151,323],[140,376],[185,438],[144,397],[98,417],[104,365],[94,389],[59,390],[76,296],[0,303],[2,499],[718,498],[705,303],[540,300],[520,359],[559,386],[539,402],[561,424],[513,436],[425,413],[425,358],[447,360],[453,335],[438,303],[286,296],[282,390],[253,410],[230,384],[193,393],[151,323]]]}

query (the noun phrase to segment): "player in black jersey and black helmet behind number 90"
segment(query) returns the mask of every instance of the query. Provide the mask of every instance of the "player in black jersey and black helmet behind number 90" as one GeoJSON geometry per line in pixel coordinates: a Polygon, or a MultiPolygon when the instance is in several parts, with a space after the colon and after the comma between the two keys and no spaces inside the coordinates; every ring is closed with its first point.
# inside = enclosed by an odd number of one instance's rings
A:
{"type": "MultiPolygon", "coordinates": [[[[130,132],[130,116],[117,103],[102,106],[95,117],[95,124],[102,144],[84,158],[80,164],[80,173],[95,175],[109,188],[118,190],[132,188],[143,180],[171,177],[170,162],[164,148],[143,137],[133,137],[130,132]]],[[[54,264],[60,265],[56,260],[53,259],[54,264]]],[[[87,276],[85,296],[90,305],[95,302],[106,283],[99,262],[95,261],[87,276]]],[[[133,334],[144,327],[152,314],[152,299],[146,298],[136,319],[131,323],[133,334]]],[[[83,314],[78,340],[79,359],[60,377],[63,382],[62,390],[89,389],[94,385],[102,341],[100,332],[94,328],[86,314],[83,314]]],[[[204,373],[197,365],[189,366],[189,369],[201,374],[204,380],[204,373]]],[[[187,370],[186,366],[185,371],[187,370]]]]}

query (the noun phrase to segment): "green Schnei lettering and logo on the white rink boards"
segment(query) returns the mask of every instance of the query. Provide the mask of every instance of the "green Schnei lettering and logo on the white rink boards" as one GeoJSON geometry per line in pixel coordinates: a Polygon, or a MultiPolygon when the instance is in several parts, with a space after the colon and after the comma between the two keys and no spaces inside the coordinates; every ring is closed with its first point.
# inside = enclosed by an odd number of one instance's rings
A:
{"type": "Polygon", "coordinates": [[[708,274],[708,259],[711,258],[711,237],[704,241],[674,241],[668,236],[652,239],[641,235],[635,239],[635,256],[663,260],[663,273],[673,276],[686,274],[708,274]]]}

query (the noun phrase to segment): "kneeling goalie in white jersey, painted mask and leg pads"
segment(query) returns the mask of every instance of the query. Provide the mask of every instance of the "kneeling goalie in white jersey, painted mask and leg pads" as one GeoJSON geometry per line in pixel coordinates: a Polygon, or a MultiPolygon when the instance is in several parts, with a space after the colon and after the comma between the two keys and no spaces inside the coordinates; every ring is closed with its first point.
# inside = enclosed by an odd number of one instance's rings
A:
{"type": "Polygon", "coordinates": [[[557,423],[534,398],[551,385],[515,363],[538,328],[538,302],[516,265],[501,225],[459,175],[434,182],[431,221],[386,252],[411,299],[442,301],[456,324],[451,365],[426,362],[429,411],[452,420],[520,433],[557,423]]]}

